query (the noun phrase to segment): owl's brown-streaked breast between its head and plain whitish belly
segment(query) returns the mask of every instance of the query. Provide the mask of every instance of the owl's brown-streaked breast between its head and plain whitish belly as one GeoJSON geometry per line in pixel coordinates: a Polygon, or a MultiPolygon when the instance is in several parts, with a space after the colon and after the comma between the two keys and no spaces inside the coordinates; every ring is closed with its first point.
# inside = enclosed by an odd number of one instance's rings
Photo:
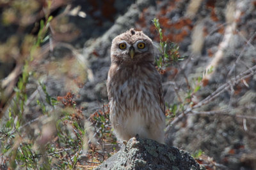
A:
{"type": "Polygon", "coordinates": [[[129,118],[136,118],[136,114],[146,122],[162,120],[157,76],[154,71],[141,70],[140,67],[113,74],[108,80],[111,122],[126,122],[129,118]]]}

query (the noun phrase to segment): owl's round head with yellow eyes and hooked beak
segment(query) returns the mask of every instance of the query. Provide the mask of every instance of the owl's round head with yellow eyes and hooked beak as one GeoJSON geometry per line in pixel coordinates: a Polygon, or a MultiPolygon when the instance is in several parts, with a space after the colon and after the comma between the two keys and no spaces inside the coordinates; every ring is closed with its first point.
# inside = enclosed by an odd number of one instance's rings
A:
{"type": "Polygon", "coordinates": [[[142,31],[129,31],[116,36],[111,45],[111,62],[137,64],[154,62],[152,40],[142,31]]]}

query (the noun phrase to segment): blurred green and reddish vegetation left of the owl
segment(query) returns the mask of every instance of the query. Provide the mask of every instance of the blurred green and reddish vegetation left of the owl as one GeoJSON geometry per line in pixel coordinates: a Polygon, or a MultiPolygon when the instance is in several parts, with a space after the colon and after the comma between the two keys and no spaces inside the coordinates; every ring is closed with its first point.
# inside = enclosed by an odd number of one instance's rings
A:
{"type": "MultiPolygon", "coordinates": [[[[31,2],[35,3],[35,1],[31,2]]],[[[33,16],[36,10],[40,10],[38,4],[17,3],[19,1],[6,4],[10,5],[8,9],[15,17],[21,13],[21,17],[25,19],[33,16]],[[26,13],[25,9],[20,8],[22,6],[25,8],[26,5],[34,5],[35,9],[26,13]],[[18,13],[14,13],[15,11],[18,13]]],[[[102,111],[98,110],[90,118],[86,118],[82,113],[83,108],[77,106],[74,92],[69,91],[65,96],[57,97],[52,97],[47,92],[38,65],[44,62],[40,53],[45,45],[50,45],[49,50],[53,48],[52,27],[58,18],[50,15],[51,1],[45,3],[42,9],[44,18],[35,23],[35,29],[38,28],[37,34],[26,34],[22,40],[19,55],[21,74],[15,75],[19,77],[19,81],[13,91],[14,96],[9,100],[10,94],[6,93],[6,89],[1,89],[0,111],[3,118],[0,129],[0,169],[92,169],[110,157],[117,147],[109,125],[109,109],[107,105],[102,106],[102,111]],[[29,96],[31,81],[36,84],[34,93],[39,96],[36,101],[29,96]],[[3,115],[6,112],[5,108],[8,108],[8,117],[3,115]],[[31,118],[31,113],[35,114],[36,118],[31,118]]],[[[3,23],[13,24],[16,20],[11,20],[9,17],[12,14],[5,12],[3,23]]],[[[7,44],[2,45],[3,49],[4,46],[19,48],[19,43],[16,42],[20,39],[16,39],[16,36],[9,38],[7,44]]],[[[2,56],[8,55],[12,56],[12,50],[4,51],[2,56]]],[[[72,75],[70,81],[73,89],[68,88],[70,90],[74,90],[74,87],[82,88],[85,75],[82,71],[80,75],[77,74],[79,69],[84,67],[77,64],[76,74],[70,73],[70,70],[67,70],[70,62],[78,63],[74,59],[64,59],[61,61],[64,66],[58,70],[59,73],[56,71],[57,73],[52,76],[69,73],[72,75]]],[[[56,69],[56,66],[47,67],[47,74],[52,74],[52,70],[56,69]]]]}

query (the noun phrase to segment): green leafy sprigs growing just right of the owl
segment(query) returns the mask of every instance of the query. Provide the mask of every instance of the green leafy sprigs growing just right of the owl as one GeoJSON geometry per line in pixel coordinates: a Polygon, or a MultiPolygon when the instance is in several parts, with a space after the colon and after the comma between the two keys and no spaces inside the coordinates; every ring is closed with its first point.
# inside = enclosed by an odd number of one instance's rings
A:
{"type": "MultiPolygon", "coordinates": [[[[163,30],[161,29],[161,25],[159,24],[159,20],[157,18],[154,18],[152,20],[153,24],[156,27],[156,30],[159,34],[159,56],[156,59],[156,65],[159,73],[164,74],[166,71],[166,67],[169,66],[175,66],[178,65],[177,62],[180,62],[188,56],[182,56],[179,55],[179,46],[176,45],[173,42],[164,41],[163,39],[163,30]]],[[[179,67],[179,69],[182,69],[179,67]]],[[[202,75],[198,76],[198,78],[193,80],[193,87],[189,85],[188,78],[186,74],[184,74],[184,79],[186,80],[188,89],[184,90],[182,97],[180,97],[179,88],[177,87],[177,83],[173,81],[173,85],[175,86],[175,93],[177,94],[177,97],[179,98],[179,103],[174,104],[168,104],[166,103],[166,118],[168,120],[168,124],[172,122],[173,118],[177,117],[178,115],[184,115],[184,111],[193,105],[192,98],[196,95],[196,92],[198,92],[202,88],[202,80],[205,75],[211,74],[213,71],[213,67],[210,67],[208,70],[205,70],[202,75]]],[[[178,70],[177,72],[180,72],[178,70]]]]}

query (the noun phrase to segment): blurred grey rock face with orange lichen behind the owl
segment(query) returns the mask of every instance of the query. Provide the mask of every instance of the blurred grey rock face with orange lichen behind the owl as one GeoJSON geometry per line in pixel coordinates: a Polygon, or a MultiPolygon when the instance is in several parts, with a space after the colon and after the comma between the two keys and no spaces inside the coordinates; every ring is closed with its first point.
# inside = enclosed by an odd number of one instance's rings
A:
{"type": "MultiPolygon", "coordinates": [[[[180,55],[189,56],[163,74],[166,104],[186,102],[189,90],[193,92],[198,85],[198,77],[203,78],[200,90],[192,93],[189,101],[193,102],[191,107],[196,107],[185,116],[176,115],[179,119],[173,118],[175,122],[168,124],[166,144],[190,153],[202,150],[214,160],[216,169],[256,169],[255,1],[77,0],[71,4],[71,9],[81,6],[86,17],[69,15],[68,24],[77,32],[76,36],[71,32],[74,38],[70,41],[65,41],[63,35],[55,36],[65,45],[56,43],[54,50],[45,55],[45,62],[74,55],[86,66],[86,83],[77,90],[77,102],[84,107],[84,115],[108,103],[105,84],[111,40],[134,27],[157,43],[159,36],[152,19],[158,18],[164,40],[177,43],[180,55]],[[211,66],[213,71],[207,73],[211,66]],[[253,75],[241,78],[239,75],[247,70],[246,74],[253,75]],[[236,76],[239,77],[234,79],[236,76]],[[207,96],[214,99],[200,103],[207,96]]],[[[12,30],[9,29],[10,34],[12,30]]],[[[1,41],[5,39],[1,37],[1,41]]],[[[0,65],[4,76],[13,67],[12,62],[8,63],[0,65]]],[[[63,96],[70,90],[60,83],[65,81],[63,76],[40,78],[51,96],[63,96]]]]}

